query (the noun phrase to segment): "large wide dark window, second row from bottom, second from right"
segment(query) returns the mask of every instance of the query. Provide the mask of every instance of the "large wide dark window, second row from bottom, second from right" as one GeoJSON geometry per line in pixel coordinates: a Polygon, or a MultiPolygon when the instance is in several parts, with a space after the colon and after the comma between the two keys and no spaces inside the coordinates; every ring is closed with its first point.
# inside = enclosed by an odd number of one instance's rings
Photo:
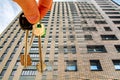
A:
{"type": "Polygon", "coordinates": [[[88,45],[88,53],[105,53],[107,52],[103,45],[88,45]]]}

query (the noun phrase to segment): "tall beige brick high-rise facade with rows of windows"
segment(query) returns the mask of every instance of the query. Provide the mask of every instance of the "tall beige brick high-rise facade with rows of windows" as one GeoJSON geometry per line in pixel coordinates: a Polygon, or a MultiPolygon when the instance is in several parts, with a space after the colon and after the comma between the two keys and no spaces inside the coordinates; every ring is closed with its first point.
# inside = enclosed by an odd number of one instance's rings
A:
{"type": "Polygon", "coordinates": [[[54,2],[41,22],[47,29],[41,40],[46,70],[36,69],[37,37],[29,51],[32,66],[21,65],[25,32],[18,14],[0,35],[0,80],[120,79],[120,6],[111,0],[54,2]]]}

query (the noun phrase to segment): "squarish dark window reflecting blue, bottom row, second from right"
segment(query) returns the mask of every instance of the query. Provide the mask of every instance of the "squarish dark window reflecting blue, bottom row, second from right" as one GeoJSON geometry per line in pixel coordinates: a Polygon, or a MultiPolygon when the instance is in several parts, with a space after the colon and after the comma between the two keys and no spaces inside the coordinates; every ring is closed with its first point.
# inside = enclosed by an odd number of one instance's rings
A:
{"type": "Polygon", "coordinates": [[[102,67],[99,60],[90,60],[91,71],[102,71],[102,67]]]}

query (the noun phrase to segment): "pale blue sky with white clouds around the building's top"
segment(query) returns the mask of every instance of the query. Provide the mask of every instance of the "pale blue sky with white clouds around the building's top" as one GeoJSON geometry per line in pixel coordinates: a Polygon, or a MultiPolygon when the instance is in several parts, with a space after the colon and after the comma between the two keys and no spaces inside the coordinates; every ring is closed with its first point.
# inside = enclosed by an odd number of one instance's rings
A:
{"type": "MultiPolygon", "coordinates": [[[[54,0],[54,1],[80,1],[80,0],[54,0]]],[[[120,0],[117,1],[120,4],[120,0]]],[[[21,8],[12,0],[0,0],[0,33],[11,23],[21,8]]]]}

